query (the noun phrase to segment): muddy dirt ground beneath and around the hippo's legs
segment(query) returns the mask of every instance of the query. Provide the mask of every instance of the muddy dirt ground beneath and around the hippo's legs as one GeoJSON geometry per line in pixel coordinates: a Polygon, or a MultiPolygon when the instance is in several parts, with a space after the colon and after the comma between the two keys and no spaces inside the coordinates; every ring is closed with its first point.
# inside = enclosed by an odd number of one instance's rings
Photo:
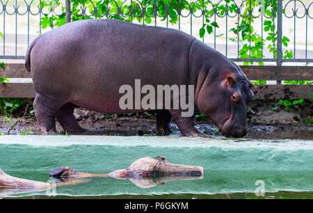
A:
{"type": "MultiPolygon", "coordinates": [[[[26,111],[19,107],[13,116],[0,117],[1,134],[39,134],[35,116],[31,113],[31,101],[26,111]]],[[[313,127],[308,123],[313,118],[312,102],[303,104],[299,109],[286,110],[279,107],[273,111],[275,102],[253,101],[248,108],[248,134],[244,138],[252,139],[313,139],[313,127]]],[[[23,109],[24,107],[24,109],[23,109]]],[[[76,108],[74,116],[81,127],[93,130],[93,134],[116,136],[156,136],[156,118],[154,111],[108,115],[76,108]]],[[[175,123],[171,123],[172,136],[181,136],[175,123]]],[[[195,127],[200,132],[212,137],[220,137],[220,132],[209,118],[195,116],[195,127]]],[[[57,123],[56,129],[60,134],[66,134],[57,123]]]]}

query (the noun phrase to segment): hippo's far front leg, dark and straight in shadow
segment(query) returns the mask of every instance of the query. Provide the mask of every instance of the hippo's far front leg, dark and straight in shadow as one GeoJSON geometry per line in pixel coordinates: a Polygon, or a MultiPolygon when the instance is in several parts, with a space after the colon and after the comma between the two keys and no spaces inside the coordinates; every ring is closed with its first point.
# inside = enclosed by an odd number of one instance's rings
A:
{"type": "Polygon", "coordinates": [[[160,135],[169,135],[172,133],[170,129],[170,119],[172,115],[166,109],[157,110],[157,131],[160,135]]]}

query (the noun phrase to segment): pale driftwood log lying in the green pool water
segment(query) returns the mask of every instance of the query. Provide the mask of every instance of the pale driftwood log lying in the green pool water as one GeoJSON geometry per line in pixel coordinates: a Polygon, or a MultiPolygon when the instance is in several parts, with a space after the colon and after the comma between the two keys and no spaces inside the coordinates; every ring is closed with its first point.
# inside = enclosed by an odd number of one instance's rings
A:
{"type": "MultiPolygon", "coordinates": [[[[151,188],[172,180],[202,179],[204,172],[201,166],[171,164],[165,157],[158,156],[156,159],[152,157],[142,157],[134,161],[128,168],[116,170],[109,174],[82,173],[74,171],[74,169],[70,167],[60,167],[51,171],[49,175],[52,180],[58,182],[56,184],[57,187],[88,181],[87,179],[81,178],[111,177],[128,179],[141,188],[151,188]]],[[[47,182],[12,177],[0,169],[0,197],[32,191],[45,191],[51,189],[51,187],[52,184],[47,182]]]]}

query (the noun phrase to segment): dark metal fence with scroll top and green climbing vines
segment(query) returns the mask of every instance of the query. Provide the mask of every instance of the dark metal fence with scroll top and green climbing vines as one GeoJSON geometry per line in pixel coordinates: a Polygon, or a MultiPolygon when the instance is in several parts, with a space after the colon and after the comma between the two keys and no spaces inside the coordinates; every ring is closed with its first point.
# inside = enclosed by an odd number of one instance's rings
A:
{"type": "Polygon", "coordinates": [[[114,18],[185,31],[233,61],[313,62],[312,0],[0,0],[0,6],[2,59],[24,59],[31,40],[64,22],[114,18]],[[253,29],[246,40],[243,20],[253,29]]]}

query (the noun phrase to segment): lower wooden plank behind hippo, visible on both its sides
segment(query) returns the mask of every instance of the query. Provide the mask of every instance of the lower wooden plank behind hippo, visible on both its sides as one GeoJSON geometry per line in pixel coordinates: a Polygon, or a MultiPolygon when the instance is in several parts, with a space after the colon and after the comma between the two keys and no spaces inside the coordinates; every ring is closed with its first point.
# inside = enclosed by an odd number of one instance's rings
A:
{"type": "MultiPolygon", "coordinates": [[[[313,85],[256,85],[255,99],[311,99],[313,85]]],[[[35,89],[31,83],[0,84],[0,97],[35,97],[35,89]]]]}

